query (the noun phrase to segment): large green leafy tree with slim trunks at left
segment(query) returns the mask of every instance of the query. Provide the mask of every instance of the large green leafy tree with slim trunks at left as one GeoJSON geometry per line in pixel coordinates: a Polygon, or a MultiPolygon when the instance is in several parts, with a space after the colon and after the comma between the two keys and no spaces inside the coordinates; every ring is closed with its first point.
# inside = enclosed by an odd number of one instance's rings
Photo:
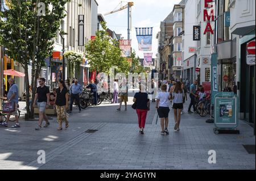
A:
{"type": "MultiPolygon", "coordinates": [[[[32,101],[35,98],[36,79],[51,56],[56,32],[61,19],[65,17],[65,4],[69,0],[6,0],[10,9],[0,12],[0,40],[8,49],[7,54],[18,61],[25,70],[32,65],[32,101]],[[44,15],[39,15],[39,2],[44,3],[44,15]]],[[[28,72],[25,71],[26,92],[29,92],[28,72]]],[[[30,117],[29,95],[27,94],[27,113],[30,117]]]]}

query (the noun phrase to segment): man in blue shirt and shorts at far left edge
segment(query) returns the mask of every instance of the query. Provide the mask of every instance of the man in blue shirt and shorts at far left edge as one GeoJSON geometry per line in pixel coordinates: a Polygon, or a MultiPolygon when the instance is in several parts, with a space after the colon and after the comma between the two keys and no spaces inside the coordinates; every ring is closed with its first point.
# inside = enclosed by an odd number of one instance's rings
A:
{"type": "Polygon", "coordinates": [[[10,85],[10,89],[9,89],[9,92],[7,93],[7,102],[11,103],[11,105],[14,106],[14,111],[9,112],[7,114],[6,121],[5,123],[2,123],[2,125],[4,127],[8,127],[10,116],[14,115],[16,124],[14,124],[11,128],[19,128],[20,127],[19,117],[18,117],[19,89],[18,89],[18,85],[16,85],[13,78],[10,78],[8,82],[10,85]]]}

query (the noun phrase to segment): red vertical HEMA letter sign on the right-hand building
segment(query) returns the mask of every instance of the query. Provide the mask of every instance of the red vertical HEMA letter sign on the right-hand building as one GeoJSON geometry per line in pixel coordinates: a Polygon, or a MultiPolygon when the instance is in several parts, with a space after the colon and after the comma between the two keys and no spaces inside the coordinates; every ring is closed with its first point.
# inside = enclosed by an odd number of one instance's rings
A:
{"type": "Polygon", "coordinates": [[[213,5],[209,4],[212,2],[213,2],[213,0],[204,0],[204,8],[205,8],[204,9],[204,22],[206,22],[206,20],[207,20],[207,26],[205,27],[204,35],[207,32],[210,32],[213,34],[212,26],[210,25],[210,19],[212,19],[212,21],[214,21],[214,10],[210,9],[210,11],[209,11],[210,14],[208,14],[208,9],[213,7],[213,5]]]}

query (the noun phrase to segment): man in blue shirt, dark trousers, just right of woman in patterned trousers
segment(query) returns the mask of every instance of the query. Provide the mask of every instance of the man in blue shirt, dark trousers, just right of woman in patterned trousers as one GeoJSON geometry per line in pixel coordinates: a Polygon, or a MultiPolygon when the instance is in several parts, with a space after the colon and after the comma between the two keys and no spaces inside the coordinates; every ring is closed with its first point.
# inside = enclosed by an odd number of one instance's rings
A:
{"type": "Polygon", "coordinates": [[[81,106],[80,106],[80,98],[79,95],[82,94],[82,86],[78,83],[78,80],[75,79],[75,83],[73,83],[69,89],[69,94],[71,95],[70,98],[70,113],[72,113],[72,107],[74,100],[76,100],[76,103],[79,107],[79,112],[81,112],[81,106]]]}

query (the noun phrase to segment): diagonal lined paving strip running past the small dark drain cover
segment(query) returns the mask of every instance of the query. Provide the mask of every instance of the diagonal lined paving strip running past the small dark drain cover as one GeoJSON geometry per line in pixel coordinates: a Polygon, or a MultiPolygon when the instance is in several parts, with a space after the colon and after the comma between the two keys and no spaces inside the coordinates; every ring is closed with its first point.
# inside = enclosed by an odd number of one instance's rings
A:
{"type": "MultiPolygon", "coordinates": [[[[99,124],[94,125],[90,129],[100,130],[105,125],[106,125],[106,123],[99,123],[99,124]]],[[[61,146],[58,146],[56,149],[53,149],[49,153],[46,153],[46,163],[51,161],[53,158],[57,157],[57,155],[60,155],[60,154],[64,153],[65,151],[67,151],[68,149],[71,149],[73,146],[79,144],[81,141],[85,140],[85,138],[87,138],[91,134],[93,134],[93,133],[85,133],[85,131],[84,131],[81,134],[79,134],[78,136],[76,136],[75,138],[73,138],[72,140],[66,142],[65,144],[63,144],[61,146]]],[[[42,167],[43,165],[44,164],[38,163],[38,159],[35,159],[34,161],[28,163],[27,166],[21,167],[19,170],[36,170],[36,169],[39,169],[40,167],[42,167]]]]}

